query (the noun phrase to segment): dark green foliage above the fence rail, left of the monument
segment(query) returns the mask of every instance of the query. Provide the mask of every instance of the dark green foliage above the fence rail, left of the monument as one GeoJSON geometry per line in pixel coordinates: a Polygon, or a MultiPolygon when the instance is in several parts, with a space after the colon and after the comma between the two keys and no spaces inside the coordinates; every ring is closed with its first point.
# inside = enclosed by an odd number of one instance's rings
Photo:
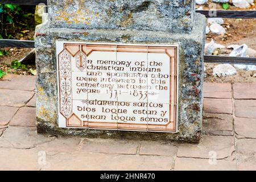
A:
{"type": "MultiPolygon", "coordinates": [[[[31,11],[31,8],[24,11],[20,5],[0,4],[0,39],[14,39],[17,37],[16,34],[19,34],[24,28],[28,28],[31,24],[33,26],[34,23],[31,23],[30,20],[34,19],[34,15],[28,11],[31,11]]],[[[34,8],[32,8],[33,11],[34,8]]]]}

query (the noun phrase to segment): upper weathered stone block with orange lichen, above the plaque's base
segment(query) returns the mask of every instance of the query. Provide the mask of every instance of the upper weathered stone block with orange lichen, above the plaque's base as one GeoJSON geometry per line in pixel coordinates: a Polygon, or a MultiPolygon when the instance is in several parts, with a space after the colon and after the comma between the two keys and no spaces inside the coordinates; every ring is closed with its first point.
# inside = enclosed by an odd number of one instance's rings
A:
{"type": "Polygon", "coordinates": [[[190,32],[195,0],[49,0],[51,28],[190,32]]]}

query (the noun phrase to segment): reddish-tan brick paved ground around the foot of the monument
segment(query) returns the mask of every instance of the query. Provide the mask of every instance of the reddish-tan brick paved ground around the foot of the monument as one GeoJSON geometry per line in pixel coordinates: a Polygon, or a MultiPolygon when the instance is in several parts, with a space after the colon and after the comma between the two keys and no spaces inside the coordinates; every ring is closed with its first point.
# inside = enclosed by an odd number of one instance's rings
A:
{"type": "Polygon", "coordinates": [[[256,84],[204,88],[199,144],[56,138],[36,134],[35,77],[9,75],[0,81],[0,170],[256,170],[256,84]]]}

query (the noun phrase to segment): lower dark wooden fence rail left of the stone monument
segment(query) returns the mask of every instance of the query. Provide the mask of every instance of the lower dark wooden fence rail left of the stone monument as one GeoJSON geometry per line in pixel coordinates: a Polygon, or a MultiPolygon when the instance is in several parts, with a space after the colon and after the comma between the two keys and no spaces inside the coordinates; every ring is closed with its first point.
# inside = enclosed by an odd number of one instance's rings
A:
{"type": "Polygon", "coordinates": [[[0,47],[35,48],[35,42],[32,40],[0,39],[0,47]]]}

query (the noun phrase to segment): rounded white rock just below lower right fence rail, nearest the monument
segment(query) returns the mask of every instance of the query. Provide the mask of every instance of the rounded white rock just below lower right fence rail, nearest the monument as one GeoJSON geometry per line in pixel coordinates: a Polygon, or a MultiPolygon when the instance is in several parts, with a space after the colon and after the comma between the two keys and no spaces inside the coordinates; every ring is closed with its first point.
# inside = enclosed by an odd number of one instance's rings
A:
{"type": "Polygon", "coordinates": [[[231,64],[218,64],[213,68],[213,75],[218,77],[236,75],[236,73],[236,68],[232,67],[231,64]]]}

